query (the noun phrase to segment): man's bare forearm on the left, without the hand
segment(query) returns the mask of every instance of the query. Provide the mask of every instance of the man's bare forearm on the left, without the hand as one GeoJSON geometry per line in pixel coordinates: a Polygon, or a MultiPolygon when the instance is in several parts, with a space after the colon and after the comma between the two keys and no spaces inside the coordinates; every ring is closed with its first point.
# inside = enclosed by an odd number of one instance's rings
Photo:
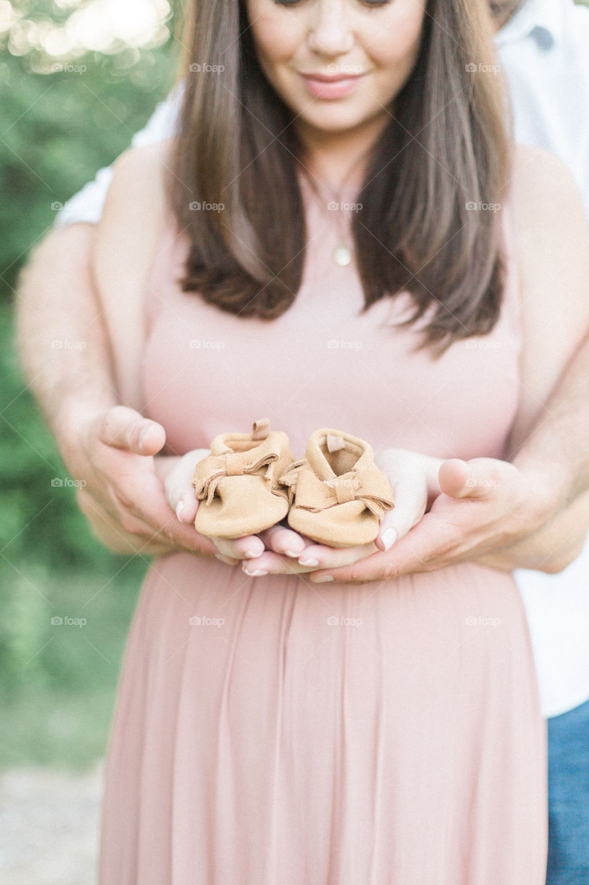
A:
{"type": "Polygon", "coordinates": [[[52,232],[19,284],[21,365],[62,450],[75,418],[118,403],[91,276],[94,235],[80,224],[52,232]]]}

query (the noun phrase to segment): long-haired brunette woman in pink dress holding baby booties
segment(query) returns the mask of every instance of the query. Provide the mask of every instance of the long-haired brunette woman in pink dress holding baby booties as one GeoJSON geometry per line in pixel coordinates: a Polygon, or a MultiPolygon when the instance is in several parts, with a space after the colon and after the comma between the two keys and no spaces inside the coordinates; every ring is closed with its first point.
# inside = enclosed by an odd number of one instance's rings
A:
{"type": "MultiPolygon", "coordinates": [[[[295,457],[318,427],[362,436],[399,497],[410,465],[407,531],[442,459],[524,439],[580,340],[578,196],[556,161],[511,157],[483,0],[192,13],[180,135],[119,161],[96,238],[122,400],[183,456],[179,519],[212,437],[269,415],[295,457]]],[[[385,556],[386,519],[381,552],[273,527],[154,562],[101,885],[543,881],[544,728],[509,573],[312,581],[385,556]]]]}

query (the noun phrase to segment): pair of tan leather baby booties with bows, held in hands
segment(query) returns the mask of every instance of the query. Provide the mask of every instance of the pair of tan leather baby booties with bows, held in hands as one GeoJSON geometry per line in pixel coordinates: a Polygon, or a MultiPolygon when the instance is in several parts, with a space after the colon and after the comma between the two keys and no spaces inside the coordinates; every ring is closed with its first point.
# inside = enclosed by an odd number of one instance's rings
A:
{"type": "Polygon", "coordinates": [[[255,421],[251,434],[221,434],[192,478],[200,504],[195,529],[207,537],[257,535],[284,519],[317,543],[353,547],[374,541],[394,506],[393,490],[371,446],[340,430],[312,433],[301,460],[288,437],[255,421]]]}

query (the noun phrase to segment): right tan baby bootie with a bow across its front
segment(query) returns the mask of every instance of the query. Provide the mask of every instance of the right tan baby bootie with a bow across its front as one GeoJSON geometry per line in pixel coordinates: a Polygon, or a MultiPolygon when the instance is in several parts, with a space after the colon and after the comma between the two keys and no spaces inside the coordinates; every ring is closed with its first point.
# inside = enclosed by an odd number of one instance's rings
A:
{"type": "Polygon", "coordinates": [[[353,547],[374,541],[394,506],[386,473],[371,446],[340,430],[316,430],[305,458],[280,477],[288,489],[288,525],[317,543],[353,547]]]}

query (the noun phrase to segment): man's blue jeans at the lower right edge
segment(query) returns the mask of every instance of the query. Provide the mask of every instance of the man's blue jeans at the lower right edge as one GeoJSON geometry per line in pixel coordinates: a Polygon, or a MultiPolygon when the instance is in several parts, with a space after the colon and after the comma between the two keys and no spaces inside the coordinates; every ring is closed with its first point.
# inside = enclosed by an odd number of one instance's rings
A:
{"type": "Polygon", "coordinates": [[[547,885],[589,885],[589,701],[548,720],[547,885]]]}

